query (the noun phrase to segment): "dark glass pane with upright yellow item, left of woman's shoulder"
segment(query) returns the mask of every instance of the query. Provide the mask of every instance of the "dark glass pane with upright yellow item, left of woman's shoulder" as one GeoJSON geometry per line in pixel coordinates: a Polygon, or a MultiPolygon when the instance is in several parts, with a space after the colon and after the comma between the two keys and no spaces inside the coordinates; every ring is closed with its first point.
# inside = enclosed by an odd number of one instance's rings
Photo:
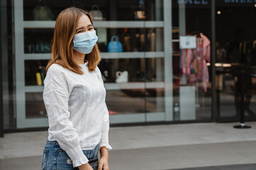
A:
{"type": "Polygon", "coordinates": [[[25,86],[43,86],[48,60],[25,61],[25,86]]]}

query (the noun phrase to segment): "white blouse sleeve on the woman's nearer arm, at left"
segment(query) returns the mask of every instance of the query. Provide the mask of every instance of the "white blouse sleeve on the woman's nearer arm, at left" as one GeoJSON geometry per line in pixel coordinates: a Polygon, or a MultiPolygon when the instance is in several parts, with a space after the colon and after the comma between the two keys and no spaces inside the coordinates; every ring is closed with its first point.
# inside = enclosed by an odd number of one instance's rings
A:
{"type": "Polygon", "coordinates": [[[82,152],[77,132],[69,120],[68,101],[71,89],[65,79],[65,73],[61,72],[58,67],[52,65],[48,69],[44,82],[43,101],[48,113],[49,133],[67,152],[72,159],[73,166],[77,167],[87,164],[88,159],[82,152]]]}

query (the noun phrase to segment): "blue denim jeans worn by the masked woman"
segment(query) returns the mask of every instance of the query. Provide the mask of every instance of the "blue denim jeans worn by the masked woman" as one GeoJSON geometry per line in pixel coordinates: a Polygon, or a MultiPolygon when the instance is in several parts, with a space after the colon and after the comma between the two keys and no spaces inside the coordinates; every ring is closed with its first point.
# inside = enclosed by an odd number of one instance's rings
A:
{"type": "MultiPolygon", "coordinates": [[[[87,159],[96,159],[98,154],[99,145],[92,150],[83,150],[87,159]]],[[[93,169],[98,169],[98,164],[90,164],[93,169]]],[[[45,149],[43,150],[42,157],[42,170],[73,170],[72,160],[67,153],[60,147],[56,140],[47,140],[45,149]]]]}

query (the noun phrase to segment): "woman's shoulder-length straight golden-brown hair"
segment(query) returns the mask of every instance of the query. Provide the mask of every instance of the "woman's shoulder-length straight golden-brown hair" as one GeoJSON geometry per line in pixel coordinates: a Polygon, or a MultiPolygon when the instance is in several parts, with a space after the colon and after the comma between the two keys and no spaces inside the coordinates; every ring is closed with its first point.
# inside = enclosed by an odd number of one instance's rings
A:
{"type": "MultiPolygon", "coordinates": [[[[52,64],[60,64],[62,67],[72,72],[84,74],[79,64],[74,62],[73,57],[73,38],[76,33],[79,18],[82,15],[88,16],[92,24],[91,15],[80,8],[66,8],[57,17],[52,38],[52,57],[48,62],[46,72],[52,64]]],[[[87,57],[89,71],[93,72],[101,61],[98,45],[94,46],[87,57]]]]}

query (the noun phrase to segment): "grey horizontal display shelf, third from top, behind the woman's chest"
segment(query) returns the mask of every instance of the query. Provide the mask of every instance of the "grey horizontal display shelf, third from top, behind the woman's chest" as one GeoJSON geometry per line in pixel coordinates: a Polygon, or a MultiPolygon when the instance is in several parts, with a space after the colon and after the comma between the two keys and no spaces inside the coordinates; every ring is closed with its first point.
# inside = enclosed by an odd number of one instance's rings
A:
{"type": "MultiPolygon", "coordinates": [[[[106,90],[122,89],[162,89],[165,88],[164,82],[135,82],[135,83],[104,83],[106,90]]],[[[26,86],[26,93],[43,92],[44,86],[26,86]]]]}

